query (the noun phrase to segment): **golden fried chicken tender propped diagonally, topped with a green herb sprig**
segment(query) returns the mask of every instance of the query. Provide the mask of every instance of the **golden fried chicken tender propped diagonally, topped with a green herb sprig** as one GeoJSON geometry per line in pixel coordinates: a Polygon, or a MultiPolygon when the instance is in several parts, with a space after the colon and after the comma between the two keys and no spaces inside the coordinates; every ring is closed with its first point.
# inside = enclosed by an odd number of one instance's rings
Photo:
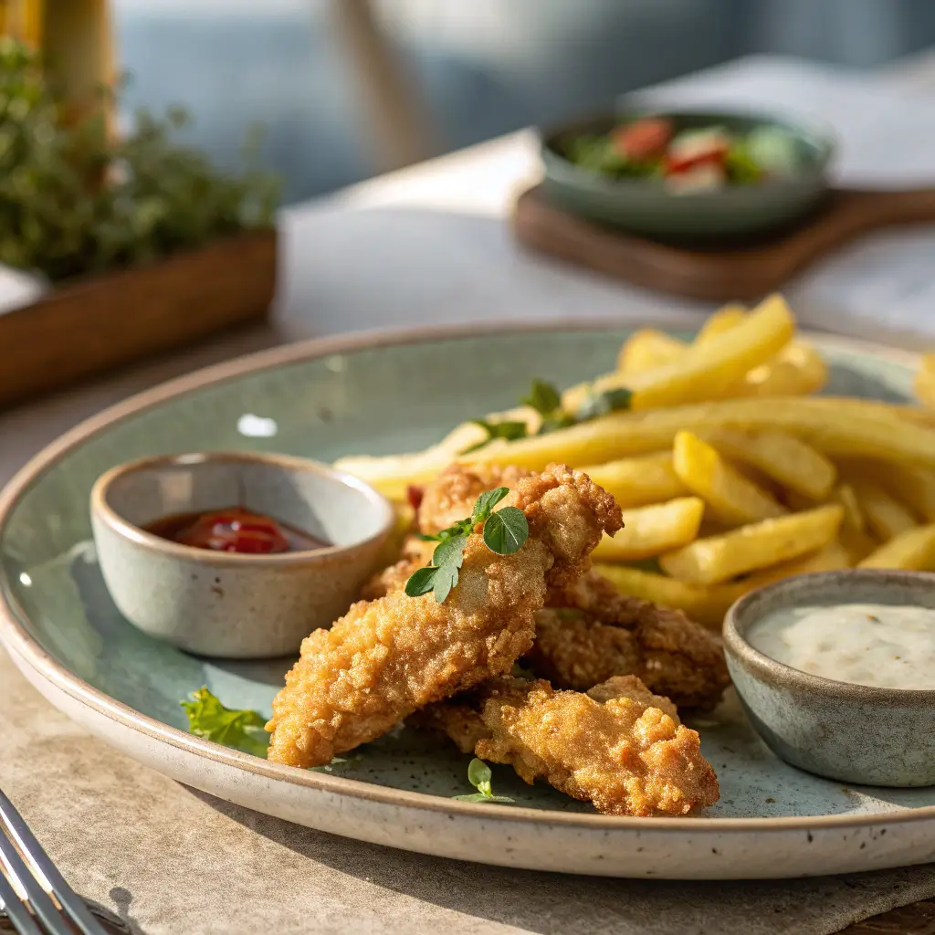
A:
{"type": "Polygon", "coordinates": [[[563,465],[519,482],[505,502],[525,512],[529,538],[497,555],[475,530],[443,604],[396,590],[303,640],[266,725],[270,760],[324,765],[418,708],[508,672],[532,643],[548,587],[582,574],[601,536],[621,525],[613,497],[563,465]]]}

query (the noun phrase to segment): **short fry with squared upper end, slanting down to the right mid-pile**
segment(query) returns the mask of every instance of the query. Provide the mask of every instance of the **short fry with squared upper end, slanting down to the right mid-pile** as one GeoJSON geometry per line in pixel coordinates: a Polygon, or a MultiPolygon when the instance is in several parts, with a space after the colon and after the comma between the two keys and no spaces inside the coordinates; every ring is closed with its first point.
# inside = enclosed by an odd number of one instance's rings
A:
{"type": "Polygon", "coordinates": [[[728,525],[755,523],[785,512],[765,490],[691,432],[676,435],[672,466],[684,485],[710,504],[714,515],[728,525]]]}

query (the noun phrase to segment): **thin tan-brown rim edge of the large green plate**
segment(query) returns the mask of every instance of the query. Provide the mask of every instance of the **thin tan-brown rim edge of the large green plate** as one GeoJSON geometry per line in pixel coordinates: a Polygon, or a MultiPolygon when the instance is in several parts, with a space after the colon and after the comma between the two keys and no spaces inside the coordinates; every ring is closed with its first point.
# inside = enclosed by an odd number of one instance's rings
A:
{"type": "MultiPolygon", "coordinates": [[[[687,320],[683,315],[672,317],[654,315],[653,318],[626,317],[616,320],[551,319],[530,323],[471,324],[434,328],[407,328],[392,331],[368,331],[334,338],[312,338],[295,344],[254,352],[222,364],[206,367],[175,380],[162,383],[136,396],[122,400],[122,402],[108,407],[106,410],[102,410],[65,432],[59,439],[56,439],[37,453],[14,475],[3,490],[0,490],[0,538],[3,537],[10,514],[19,502],[20,497],[65,453],[79,447],[87,439],[107,431],[112,425],[131,418],[139,412],[148,410],[168,399],[196,392],[209,385],[237,380],[242,376],[261,370],[309,361],[331,354],[358,352],[401,344],[430,343],[458,338],[496,338],[500,335],[536,332],[611,331],[621,327],[635,329],[640,326],[669,327],[673,331],[690,330],[690,325],[686,324],[686,322],[687,320]]],[[[809,333],[809,337],[819,346],[881,357],[903,367],[913,367],[918,361],[918,355],[914,352],[901,351],[867,341],[838,338],[817,333],[809,333]]],[[[104,715],[123,727],[136,731],[151,740],[174,747],[186,754],[204,757],[225,767],[244,770],[269,780],[303,786],[338,798],[355,798],[374,805],[383,804],[408,810],[444,813],[451,817],[461,816],[482,820],[487,824],[505,822],[511,825],[546,825],[566,827],[568,829],[581,828],[582,830],[597,832],[611,832],[615,829],[619,830],[627,827],[637,832],[652,830],[654,832],[669,831],[680,834],[685,832],[763,833],[770,831],[806,831],[820,828],[871,829],[882,826],[935,821],[935,805],[900,810],[894,813],[781,816],[773,818],[706,818],[703,815],[688,818],[629,818],[612,817],[597,813],[562,813],[519,806],[494,810],[483,804],[439,798],[426,793],[394,789],[365,783],[360,780],[330,776],[321,772],[295,770],[281,764],[269,763],[252,755],[240,753],[237,750],[231,750],[217,743],[202,740],[177,727],[165,725],[161,721],[137,712],[115,698],[111,698],[106,693],[79,679],[63,664],[47,654],[26,631],[22,624],[23,619],[28,619],[28,614],[12,597],[7,583],[7,576],[0,569],[0,642],[6,646],[14,662],[21,669],[27,667],[31,670],[26,673],[32,676],[30,681],[38,679],[40,683],[50,683],[58,692],[64,693],[65,696],[86,706],[92,712],[104,715]]],[[[809,841],[811,841],[811,836],[809,841]]],[[[883,866],[894,865],[889,863],[883,866]]]]}

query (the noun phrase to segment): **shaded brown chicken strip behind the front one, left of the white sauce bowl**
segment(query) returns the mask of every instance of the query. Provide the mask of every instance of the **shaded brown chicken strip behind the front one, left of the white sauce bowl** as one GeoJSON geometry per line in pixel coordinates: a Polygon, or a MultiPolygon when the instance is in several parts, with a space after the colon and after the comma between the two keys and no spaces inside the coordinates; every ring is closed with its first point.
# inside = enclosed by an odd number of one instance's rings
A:
{"type": "Polygon", "coordinates": [[[592,614],[544,608],[524,665],[559,688],[586,691],[614,675],[637,675],[680,708],[713,708],[730,683],[721,640],[678,611],[642,612],[631,629],[592,614]]]}

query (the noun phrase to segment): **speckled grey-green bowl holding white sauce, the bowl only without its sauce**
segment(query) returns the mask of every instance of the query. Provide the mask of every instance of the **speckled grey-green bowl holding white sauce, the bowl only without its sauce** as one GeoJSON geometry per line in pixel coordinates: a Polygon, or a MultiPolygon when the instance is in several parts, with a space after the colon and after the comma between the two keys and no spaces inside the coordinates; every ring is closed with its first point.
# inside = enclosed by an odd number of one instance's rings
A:
{"type": "Polygon", "coordinates": [[[744,633],[766,614],[804,605],[935,608],[935,575],[853,569],[758,588],[727,611],[727,669],[760,737],[786,762],[849,784],[935,785],[935,691],[837,682],[757,652],[744,633]]]}

